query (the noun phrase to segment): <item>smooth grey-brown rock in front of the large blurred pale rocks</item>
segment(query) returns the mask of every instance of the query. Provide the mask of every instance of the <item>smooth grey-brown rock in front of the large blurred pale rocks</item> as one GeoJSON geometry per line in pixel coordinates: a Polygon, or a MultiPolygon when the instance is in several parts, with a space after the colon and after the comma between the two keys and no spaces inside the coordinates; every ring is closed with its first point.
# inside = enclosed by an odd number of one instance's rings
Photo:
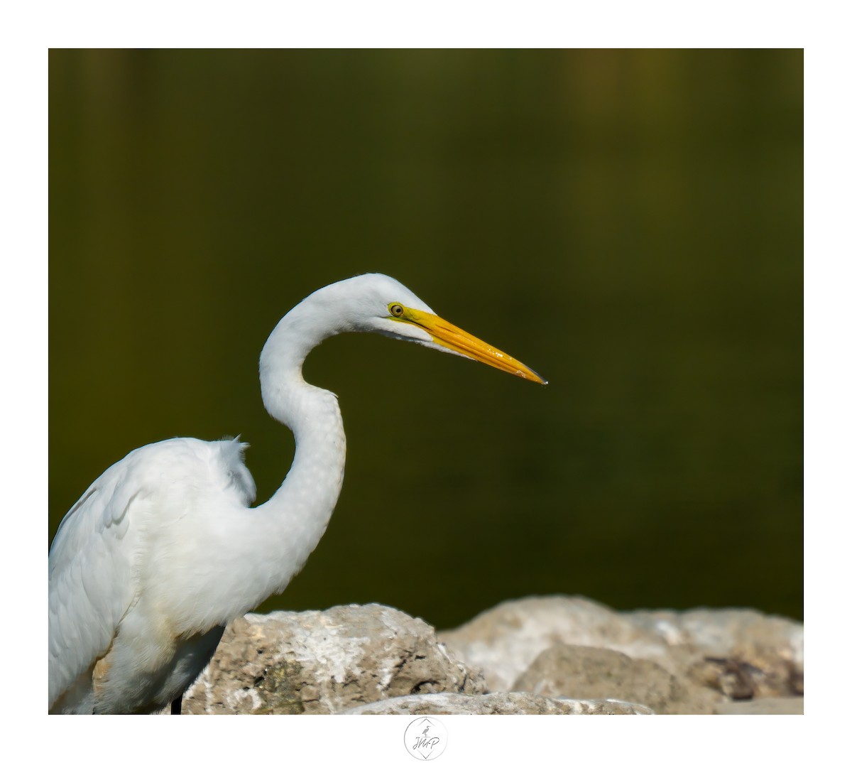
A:
{"type": "Polygon", "coordinates": [[[709,714],[717,702],[707,690],[690,696],[688,686],[656,662],[611,649],[564,644],[538,655],[513,689],[544,697],[618,699],[661,714],[709,714]]]}

